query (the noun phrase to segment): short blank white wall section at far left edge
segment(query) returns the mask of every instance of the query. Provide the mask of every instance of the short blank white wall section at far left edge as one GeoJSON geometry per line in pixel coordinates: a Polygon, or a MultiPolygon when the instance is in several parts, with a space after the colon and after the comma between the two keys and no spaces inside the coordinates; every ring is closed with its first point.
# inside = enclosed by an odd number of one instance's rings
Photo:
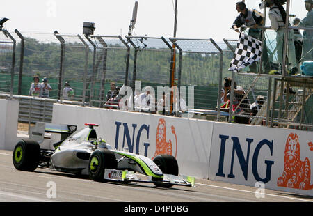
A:
{"type": "Polygon", "coordinates": [[[19,102],[0,99],[0,149],[13,150],[17,143],[19,102]]]}

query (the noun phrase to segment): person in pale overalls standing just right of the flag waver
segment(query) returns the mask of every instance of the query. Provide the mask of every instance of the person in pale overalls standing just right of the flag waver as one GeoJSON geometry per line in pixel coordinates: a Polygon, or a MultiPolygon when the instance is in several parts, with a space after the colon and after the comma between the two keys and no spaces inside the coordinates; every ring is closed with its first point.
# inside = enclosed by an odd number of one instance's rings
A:
{"type": "MultiPolygon", "coordinates": [[[[271,28],[276,31],[276,48],[278,54],[278,71],[282,71],[282,52],[284,47],[284,29],[286,22],[286,10],[279,3],[278,0],[266,0],[266,6],[270,8],[268,17],[271,20],[271,28]]],[[[298,69],[298,63],[296,61],[296,50],[294,47],[294,31],[289,30],[289,39],[288,39],[288,52],[287,57],[290,66],[291,74],[296,74],[298,69]]]]}

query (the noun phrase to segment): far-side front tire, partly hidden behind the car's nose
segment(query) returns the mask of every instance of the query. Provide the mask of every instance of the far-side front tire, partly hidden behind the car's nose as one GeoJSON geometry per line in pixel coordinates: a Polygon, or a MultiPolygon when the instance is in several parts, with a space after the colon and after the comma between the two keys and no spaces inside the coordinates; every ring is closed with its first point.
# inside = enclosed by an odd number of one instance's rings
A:
{"type": "MultiPolygon", "coordinates": [[[[157,155],[153,162],[161,169],[162,173],[178,176],[178,163],[172,155],[157,155]]],[[[154,181],[161,181],[162,178],[152,178],[154,181]]],[[[157,187],[172,187],[171,184],[154,183],[157,187]]]]}

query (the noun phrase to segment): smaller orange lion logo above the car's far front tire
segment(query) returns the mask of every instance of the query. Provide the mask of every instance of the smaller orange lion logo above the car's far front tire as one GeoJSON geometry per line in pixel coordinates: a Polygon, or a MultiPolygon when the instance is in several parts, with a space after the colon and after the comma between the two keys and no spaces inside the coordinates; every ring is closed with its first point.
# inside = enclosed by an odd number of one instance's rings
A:
{"type": "MultiPolygon", "coordinates": [[[[177,157],[177,136],[174,126],[171,126],[170,128],[172,129],[172,134],[174,134],[176,139],[175,157],[177,157]]],[[[157,127],[157,139],[154,157],[161,154],[172,155],[172,141],[166,141],[166,121],[163,118],[160,118],[157,127]]]]}

